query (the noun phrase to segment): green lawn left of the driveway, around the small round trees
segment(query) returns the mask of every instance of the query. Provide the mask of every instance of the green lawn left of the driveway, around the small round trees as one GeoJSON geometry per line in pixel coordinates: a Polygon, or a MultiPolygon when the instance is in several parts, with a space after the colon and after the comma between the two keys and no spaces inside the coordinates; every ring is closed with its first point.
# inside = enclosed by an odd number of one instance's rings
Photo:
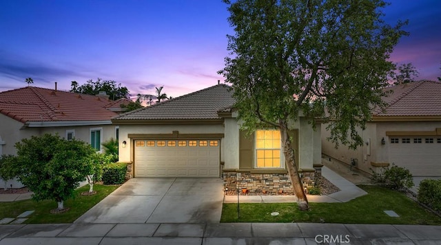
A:
{"type": "Polygon", "coordinates": [[[75,197],[65,200],[64,207],[70,208],[64,213],[52,214],[50,210],[57,208],[57,202],[54,200],[43,200],[36,202],[34,200],[21,200],[17,202],[0,202],[0,220],[2,218],[15,218],[20,213],[28,210],[34,210],[25,221],[28,224],[59,224],[72,223],[83,213],[94,207],[96,203],[103,200],[112,193],[119,185],[94,185],[95,195],[81,196],[81,193],[89,190],[89,185],[85,185],[75,190],[75,197]]]}

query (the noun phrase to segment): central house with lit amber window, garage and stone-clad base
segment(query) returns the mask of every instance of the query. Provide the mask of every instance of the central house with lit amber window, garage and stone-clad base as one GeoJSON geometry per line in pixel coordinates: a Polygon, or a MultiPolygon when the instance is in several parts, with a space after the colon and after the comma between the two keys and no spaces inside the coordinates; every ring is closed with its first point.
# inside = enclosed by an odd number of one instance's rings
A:
{"type": "MultiPolygon", "coordinates": [[[[224,178],[225,187],[291,192],[280,132],[247,136],[232,109],[232,89],[211,86],[112,119],[119,125],[119,161],[133,163],[138,177],[224,178]]],[[[320,167],[320,130],[300,117],[290,126],[305,181],[320,167]]],[[[320,125],[318,125],[320,128],[320,125]]]]}

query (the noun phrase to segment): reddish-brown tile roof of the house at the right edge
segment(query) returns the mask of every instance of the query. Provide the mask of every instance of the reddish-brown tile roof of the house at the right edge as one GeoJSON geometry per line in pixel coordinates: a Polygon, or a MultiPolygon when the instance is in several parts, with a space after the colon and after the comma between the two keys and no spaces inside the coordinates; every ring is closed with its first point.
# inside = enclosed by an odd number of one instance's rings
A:
{"type": "Polygon", "coordinates": [[[374,116],[440,116],[441,82],[422,80],[384,89],[393,91],[383,101],[388,104],[374,116]]]}

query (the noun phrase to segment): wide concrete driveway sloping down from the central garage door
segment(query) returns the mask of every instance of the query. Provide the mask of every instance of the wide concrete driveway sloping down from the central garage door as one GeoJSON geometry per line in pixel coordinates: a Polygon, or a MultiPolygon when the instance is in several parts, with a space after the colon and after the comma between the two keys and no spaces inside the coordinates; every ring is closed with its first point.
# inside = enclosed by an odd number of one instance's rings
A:
{"type": "Polygon", "coordinates": [[[220,178],[132,178],[74,223],[218,223],[220,178]]]}

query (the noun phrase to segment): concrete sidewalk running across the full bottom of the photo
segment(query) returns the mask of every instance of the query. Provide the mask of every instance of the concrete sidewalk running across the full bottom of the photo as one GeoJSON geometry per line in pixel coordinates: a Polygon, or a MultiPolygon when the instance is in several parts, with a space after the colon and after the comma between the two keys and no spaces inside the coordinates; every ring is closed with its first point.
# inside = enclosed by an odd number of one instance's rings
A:
{"type": "Polygon", "coordinates": [[[6,224],[0,227],[0,245],[440,244],[441,242],[441,226],[396,224],[6,224]]]}

